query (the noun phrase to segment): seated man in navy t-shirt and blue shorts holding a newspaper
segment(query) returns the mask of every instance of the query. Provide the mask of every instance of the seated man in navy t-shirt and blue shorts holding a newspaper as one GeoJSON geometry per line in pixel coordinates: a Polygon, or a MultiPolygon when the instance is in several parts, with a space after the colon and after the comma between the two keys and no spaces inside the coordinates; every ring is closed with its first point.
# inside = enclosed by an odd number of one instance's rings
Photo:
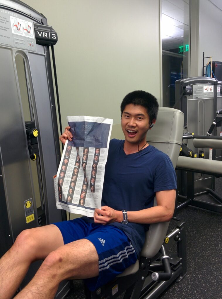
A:
{"type": "MultiPolygon", "coordinates": [[[[54,298],[58,284],[67,278],[85,279],[94,290],[136,262],[149,224],[169,221],[176,198],[176,175],[169,157],[146,142],[157,112],[151,94],[126,95],[121,104],[125,140],[110,141],[102,208],[95,209],[94,219],[83,217],[19,234],[0,260],[1,299],[13,296],[34,260],[44,261],[16,299],[54,298]],[[123,221],[126,217],[128,223],[123,221]]],[[[60,136],[63,144],[73,138],[69,129],[60,136]]]]}

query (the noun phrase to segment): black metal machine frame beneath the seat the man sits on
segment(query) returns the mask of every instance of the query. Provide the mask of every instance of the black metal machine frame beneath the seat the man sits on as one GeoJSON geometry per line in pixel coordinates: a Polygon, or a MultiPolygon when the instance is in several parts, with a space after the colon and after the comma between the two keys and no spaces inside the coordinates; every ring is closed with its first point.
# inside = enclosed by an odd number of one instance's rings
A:
{"type": "Polygon", "coordinates": [[[123,299],[156,299],[174,281],[181,281],[187,274],[185,222],[178,222],[167,234],[155,257],[149,260],[141,256],[139,262],[140,268],[134,274],[116,277],[93,292],[85,287],[86,298],[115,299],[124,292],[123,299]],[[167,256],[167,251],[174,245],[177,253],[167,256]]]}

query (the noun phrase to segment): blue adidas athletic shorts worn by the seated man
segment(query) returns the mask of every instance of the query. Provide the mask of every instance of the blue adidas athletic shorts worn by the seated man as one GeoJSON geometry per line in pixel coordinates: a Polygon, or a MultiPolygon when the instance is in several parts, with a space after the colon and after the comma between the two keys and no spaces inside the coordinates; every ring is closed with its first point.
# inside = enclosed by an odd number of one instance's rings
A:
{"type": "Polygon", "coordinates": [[[88,223],[81,218],[53,224],[61,231],[64,244],[88,239],[95,246],[99,256],[99,276],[85,279],[90,291],[114,279],[137,261],[130,240],[116,226],[88,223]]]}

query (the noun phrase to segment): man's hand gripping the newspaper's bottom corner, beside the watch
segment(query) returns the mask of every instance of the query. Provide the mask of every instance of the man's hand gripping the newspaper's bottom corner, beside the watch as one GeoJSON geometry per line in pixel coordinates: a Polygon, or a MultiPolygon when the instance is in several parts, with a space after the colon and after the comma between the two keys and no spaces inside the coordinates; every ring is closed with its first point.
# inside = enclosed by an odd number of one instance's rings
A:
{"type": "Polygon", "coordinates": [[[122,211],[116,211],[107,206],[102,207],[101,210],[95,209],[94,211],[95,223],[106,225],[112,222],[121,222],[122,220],[122,211]]]}

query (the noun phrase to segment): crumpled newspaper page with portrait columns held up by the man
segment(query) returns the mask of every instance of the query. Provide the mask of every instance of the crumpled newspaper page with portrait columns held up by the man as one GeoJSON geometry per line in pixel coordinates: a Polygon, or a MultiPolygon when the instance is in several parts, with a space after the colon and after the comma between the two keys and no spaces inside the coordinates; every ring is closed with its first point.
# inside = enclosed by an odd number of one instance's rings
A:
{"type": "Polygon", "coordinates": [[[101,208],[105,165],[113,120],[67,116],[72,141],[67,140],[54,177],[57,209],[94,216],[101,208]]]}

